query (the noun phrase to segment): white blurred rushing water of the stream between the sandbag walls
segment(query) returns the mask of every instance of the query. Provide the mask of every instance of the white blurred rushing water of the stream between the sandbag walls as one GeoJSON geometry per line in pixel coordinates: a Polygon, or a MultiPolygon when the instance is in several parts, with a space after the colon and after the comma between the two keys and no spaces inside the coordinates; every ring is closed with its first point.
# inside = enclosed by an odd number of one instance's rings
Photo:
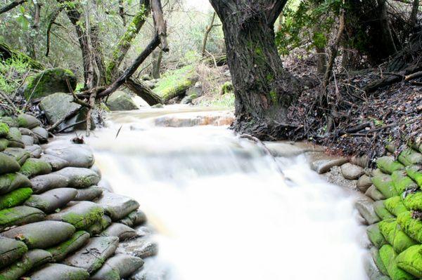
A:
{"type": "Polygon", "coordinates": [[[167,279],[366,279],[350,194],[301,157],[278,160],[286,184],[262,148],[226,127],[154,126],[165,113],[114,113],[87,142],[156,229],[167,279]]]}

